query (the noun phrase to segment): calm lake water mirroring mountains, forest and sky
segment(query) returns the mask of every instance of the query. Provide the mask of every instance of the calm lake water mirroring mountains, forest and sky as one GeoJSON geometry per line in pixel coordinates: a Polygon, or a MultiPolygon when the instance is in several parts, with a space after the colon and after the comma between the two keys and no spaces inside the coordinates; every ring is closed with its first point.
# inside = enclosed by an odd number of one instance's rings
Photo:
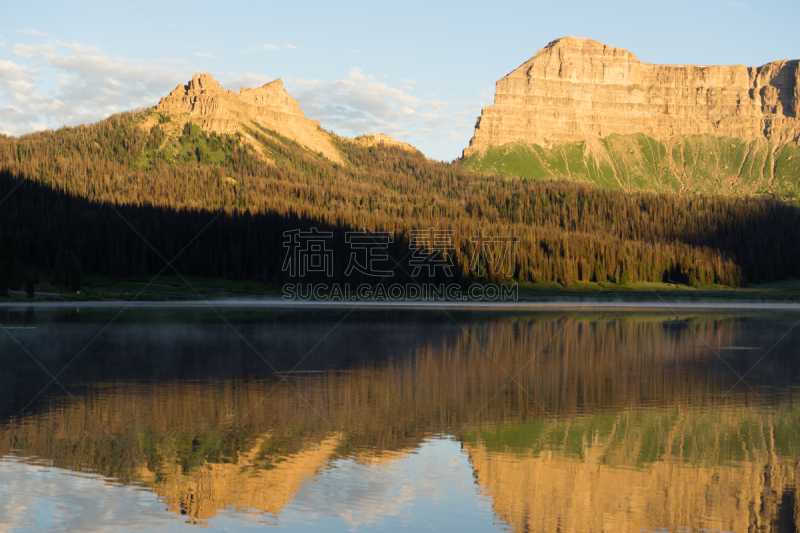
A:
{"type": "Polygon", "coordinates": [[[118,313],[0,309],[0,531],[800,523],[797,313],[118,313]]]}

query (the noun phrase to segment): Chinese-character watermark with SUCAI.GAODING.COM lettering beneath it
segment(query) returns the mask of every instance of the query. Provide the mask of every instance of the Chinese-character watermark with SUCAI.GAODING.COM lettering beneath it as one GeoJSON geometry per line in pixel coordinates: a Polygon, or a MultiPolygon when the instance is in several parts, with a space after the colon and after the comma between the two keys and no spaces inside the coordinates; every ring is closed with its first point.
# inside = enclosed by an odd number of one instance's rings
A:
{"type": "MultiPolygon", "coordinates": [[[[508,235],[487,236],[483,228],[478,235],[470,238],[472,255],[469,272],[479,283],[469,284],[466,279],[458,281],[450,279],[442,282],[443,277],[455,278],[456,258],[455,231],[427,228],[411,230],[408,234],[409,252],[403,257],[410,257],[408,266],[411,278],[426,273],[428,279],[400,283],[384,283],[384,280],[395,277],[392,250],[395,244],[394,234],[388,231],[348,231],[344,234],[344,243],[334,241],[332,231],[289,230],[283,232],[286,256],[283,260],[283,271],[293,278],[303,278],[309,273],[319,273],[329,279],[325,282],[287,283],[283,285],[283,298],[300,301],[372,301],[372,302],[496,302],[517,301],[518,284],[513,282],[516,270],[516,245],[519,237],[514,228],[509,228],[508,235]],[[349,254],[344,272],[334,274],[334,249],[344,244],[349,254]],[[338,283],[339,276],[353,280],[353,276],[369,276],[371,283],[362,283],[355,287],[350,282],[338,283]],[[436,279],[435,283],[431,283],[436,279]],[[507,281],[511,280],[511,281],[507,281]],[[491,283],[486,283],[491,281],[491,283]],[[355,290],[353,290],[355,288],[355,290]]],[[[397,244],[404,247],[404,244],[397,244]]],[[[465,250],[466,251],[466,250],[465,250]]],[[[337,265],[342,265],[342,258],[337,265]]],[[[465,265],[463,265],[465,266],[465,265]]],[[[357,279],[357,278],[356,278],[357,279]]],[[[363,279],[363,278],[362,278],[363,279]]],[[[473,278],[474,279],[474,278],[473,278]]]]}

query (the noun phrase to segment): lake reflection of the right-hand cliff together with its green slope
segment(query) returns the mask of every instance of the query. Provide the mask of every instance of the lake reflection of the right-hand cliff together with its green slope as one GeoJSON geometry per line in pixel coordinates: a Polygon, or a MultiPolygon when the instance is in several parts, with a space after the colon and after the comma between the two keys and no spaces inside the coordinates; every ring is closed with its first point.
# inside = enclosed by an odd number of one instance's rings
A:
{"type": "Polygon", "coordinates": [[[612,418],[606,435],[553,424],[539,449],[466,442],[497,518],[532,533],[796,531],[800,467],[773,440],[784,429],[777,417],[738,410],[612,418]],[[731,460],[729,430],[748,427],[766,431],[745,439],[744,460],[731,460]],[[651,453],[652,462],[637,460],[651,453]]]}

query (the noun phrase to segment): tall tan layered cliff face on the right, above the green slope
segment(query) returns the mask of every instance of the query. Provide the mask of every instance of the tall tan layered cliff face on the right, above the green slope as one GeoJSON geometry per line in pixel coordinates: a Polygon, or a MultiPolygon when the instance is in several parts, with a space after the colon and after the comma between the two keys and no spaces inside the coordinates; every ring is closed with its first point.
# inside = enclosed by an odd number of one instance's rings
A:
{"type": "Polygon", "coordinates": [[[590,39],[558,39],[497,82],[464,156],[516,141],[549,146],[611,134],[797,142],[799,71],[797,60],[651,65],[590,39]]]}

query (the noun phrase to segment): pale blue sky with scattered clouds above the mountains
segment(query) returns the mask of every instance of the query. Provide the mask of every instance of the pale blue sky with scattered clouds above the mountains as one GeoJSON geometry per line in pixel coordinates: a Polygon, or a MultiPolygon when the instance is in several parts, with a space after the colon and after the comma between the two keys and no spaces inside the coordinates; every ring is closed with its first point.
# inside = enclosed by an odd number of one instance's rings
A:
{"type": "Polygon", "coordinates": [[[796,0],[30,0],[2,11],[2,133],[150,107],[209,72],[235,91],[281,78],[325,129],[385,133],[444,161],[469,144],[495,82],[559,37],[648,63],[800,58],[796,0]]]}

